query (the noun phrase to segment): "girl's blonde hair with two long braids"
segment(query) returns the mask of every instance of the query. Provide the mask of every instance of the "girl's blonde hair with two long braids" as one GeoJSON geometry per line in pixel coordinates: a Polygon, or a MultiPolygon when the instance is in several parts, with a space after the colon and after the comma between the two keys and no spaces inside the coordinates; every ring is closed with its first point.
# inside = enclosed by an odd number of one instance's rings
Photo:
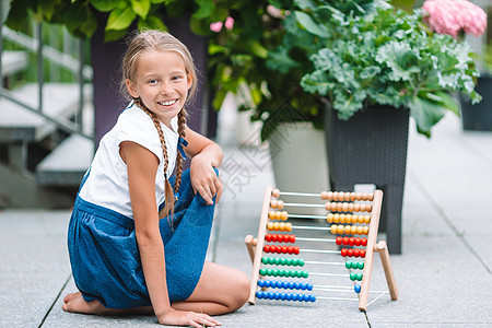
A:
{"type": "MultiPolygon", "coordinates": [[[[137,80],[137,66],[140,55],[150,51],[174,51],[177,52],[185,62],[186,73],[192,78],[191,87],[188,92],[188,97],[186,99],[185,106],[188,105],[196,96],[197,93],[197,70],[195,68],[194,59],[188,48],[176,37],[171,35],[167,32],[156,31],[156,30],[147,30],[137,32],[128,44],[127,51],[122,58],[121,70],[121,84],[120,91],[126,96],[126,98],[132,98],[133,102],[142,108],[154,122],[154,127],[159,132],[159,138],[161,140],[162,151],[164,155],[164,176],[165,176],[165,207],[159,213],[159,218],[163,219],[169,214],[173,216],[174,214],[174,194],[179,190],[179,186],[181,184],[181,174],[183,174],[183,155],[178,151],[176,156],[176,179],[174,184],[174,190],[171,187],[167,177],[167,166],[168,166],[168,157],[167,157],[167,148],[166,141],[164,138],[164,132],[161,128],[161,122],[159,118],[153,114],[147,106],[143,104],[141,98],[131,97],[130,93],[126,86],[126,80],[130,80],[136,83],[137,80]]],[[[185,138],[185,126],[186,126],[186,109],[185,107],[177,115],[178,118],[178,134],[180,138],[185,138]]],[[[179,141],[178,141],[179,142],[179,141]]]]}

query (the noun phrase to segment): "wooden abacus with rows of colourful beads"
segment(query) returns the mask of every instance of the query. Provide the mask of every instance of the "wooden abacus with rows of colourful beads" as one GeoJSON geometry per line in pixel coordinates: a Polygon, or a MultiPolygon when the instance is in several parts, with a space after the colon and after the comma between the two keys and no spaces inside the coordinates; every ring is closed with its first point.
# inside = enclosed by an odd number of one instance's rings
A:
{"type": "MultiPolygon", "coordinates": [[[[253,273],[250,280],[250,294],[248,302],[256,303],[256,298],[279,300],[279,301],[298,301],[298,302],[315,302],[317,300],[340,300],[340,301],[358,301],[359,309],[366,311],[370,294],[370,281],[373,267],[374,251],[377,251],[383,262],[384,272],[390,298],[396,301],[398,298],[398,291],[393,274],[393,268],[389,259],[388,248],[386,242],[376,243],[377,230],[379,225],[379,214],[383,202],[383,191],[375,190],[374,194],[356,194],[356,192],[337,192],[323,191],[320,194],[304,194],[304,192],[281,192],[279,189],[267,187],[265,192],[263,204],[261,209],[261,218],[258,229],[257,238],[251,235],[246,236],[246,246],[253,262],[253,273]],[[280,196],[296,196],[296,197],[317,197],[325,203],[284,203],[282,200],[277,200],[280,196]],[[326,215],[312,214],[294,214],[282,211],[283,208],[302,208],[302,207],[323,207],[328,213],[326,215]],[[358,214],[352,214],[358,212],[358,214]],[[359,214],[362,213],[362,214],[359,214]],[[326,220],[329,226],[314,226],[314,225],[296,225],[285,222],[289,218],[292,219],[323,219],[326,220]],[[279,222],[283,221],[283,222],[279,222]],[[347,223],[339,224],[339,223],[347,223]],[[289,234],[270,234],[268,231],[290,232],[298,230],[301,232],[309,233],[309,231],[327,231],[337,236],[336,238],[312,238],[298,237],[289,234]],[[364,237],[348,237],[347,235],[367,235],[364,237]],[[306,249],[300,246],[280,246],[274,244],[265,244],[265,242],[272,243],[296,243],[296,242],[321,242],[335,243],[340,247],[347,246],[338,250],[330,249],[306,249]],[[365,249],[364,249],[364,248],[365,249]],[[331,254],[336,256],[355,257],[364,259],[363,261],[312,261],[304,260],[297,257],[263,257],[263,253],[276,254],[331,254]],[[327,265],[327,266],[344,266],[349,270],[349,274],[330,273],[330,272],[308,272],[304,270],[282,270],[282,269],[266,269],[263,266],[297,266],[305,265],[327,265]],[[363,270],[360,273],[360,270],[363,270]],[[263,277],[283,277],[284,280],[268,280],[263,277]],[[317,285],[311,282],[292,281],[292,279],[305,279],[309,276],[321,277],[349,277],[353,282],[353,286],[340,285],[317,285]],[[361,283],[356,283],[361,281],[361,283]],[[331,296],[316,296],[309,293],[284,293],[284,292],[268,292],[269,288],[273,289],[289,289],[289,290],[304,290],[304,291],[319,291],[325,292],[355,292],[358,297],[331,297],[331,296]]],[[[388,292],[374,292],[379,295],[372,302],[379,298],[388,292]]],[[[372,303],[371,302],[371,303],[372,303]]],[[[371,304],[370,303],[370,304],[371,304]]]]}

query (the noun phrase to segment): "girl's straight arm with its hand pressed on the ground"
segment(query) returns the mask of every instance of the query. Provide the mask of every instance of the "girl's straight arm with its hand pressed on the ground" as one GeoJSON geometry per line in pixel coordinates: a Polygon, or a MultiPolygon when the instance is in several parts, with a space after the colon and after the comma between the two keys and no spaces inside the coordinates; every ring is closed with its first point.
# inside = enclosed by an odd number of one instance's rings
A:
{"type": "Polygon", "coordinates": [[[214,327],[212,317],[192,312],[175,311],[167,294],[164,244],[159,230],[155,200],[155,175],[159,159],[148,149],[130,141],[120,144],[120,155],[127,164],[128,185],[133,211],[137,244],[142,261],[143,276],[152,307],[160,324],[214,327]]]}

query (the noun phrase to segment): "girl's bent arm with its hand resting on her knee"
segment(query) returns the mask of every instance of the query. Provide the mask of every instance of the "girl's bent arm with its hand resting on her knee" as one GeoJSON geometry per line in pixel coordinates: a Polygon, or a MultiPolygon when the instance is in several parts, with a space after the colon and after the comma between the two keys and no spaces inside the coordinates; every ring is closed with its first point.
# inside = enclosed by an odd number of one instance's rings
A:
{"type": "Polygon", "coordinates": [[[185,128],[188,147],[186,153],[192,159],[190,164],[190,179],[195,192],[200,192],[207,203],[213,203],[222,195],[222,181],[213,171],[222,163],[223,153],[219,144],[195,132],[188,126],[185,128]]]}

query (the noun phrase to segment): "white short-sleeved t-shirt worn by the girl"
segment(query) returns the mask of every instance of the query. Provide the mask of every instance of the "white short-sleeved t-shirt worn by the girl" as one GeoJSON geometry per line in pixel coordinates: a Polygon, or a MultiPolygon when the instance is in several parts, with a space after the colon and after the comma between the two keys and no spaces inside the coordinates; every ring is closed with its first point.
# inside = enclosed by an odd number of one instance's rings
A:
{"type": "MultiPolygon", "coordinates": [[[[175,131],[177,131],[177,117],[171,120],[173,130],[163,122],[161,122],[161,127],[167,148],[167,177],[171,177],[176,164],[178,134],[175,131]]],[[[159,207],[164,201],[164,155],[159,132],[152,118],[134,104],[130,104],[119,115],[118,121],[113,129],[101,139],[89,177],[79,196],[85,201],[133,219],[127,165],[119,155],[119,145],[122,141],[136,142],[157,156],[159,167],[155,175],[156,206],[159,207]]]]}

